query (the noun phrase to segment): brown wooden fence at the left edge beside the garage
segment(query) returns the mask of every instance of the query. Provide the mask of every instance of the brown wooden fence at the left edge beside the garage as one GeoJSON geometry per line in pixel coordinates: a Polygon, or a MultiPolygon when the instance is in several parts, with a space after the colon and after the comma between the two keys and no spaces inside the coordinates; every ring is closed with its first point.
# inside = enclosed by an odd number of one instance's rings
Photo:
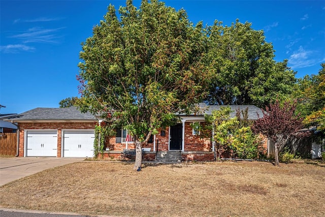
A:
{"type": "Polygon", "coordinates": [[[15,156],[17,133],[0,133],[0,154],[15,156]]]}

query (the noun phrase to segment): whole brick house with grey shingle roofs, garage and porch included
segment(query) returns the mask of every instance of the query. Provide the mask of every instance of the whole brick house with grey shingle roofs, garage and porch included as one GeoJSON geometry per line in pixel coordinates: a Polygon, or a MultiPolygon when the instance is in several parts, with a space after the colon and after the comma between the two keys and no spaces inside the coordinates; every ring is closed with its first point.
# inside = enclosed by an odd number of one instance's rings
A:
{"type": "MultiPolygon", "coordinates": [[[[200,132],[190,125],[200,122],[204,125],[204,114],[211,114],[222,106],[200,104],[202,114],[180,115],[175,126],[160,129],[143,147],[145,161],[172,156],[182,161],[213,161],[214,147],[210,138],[201,138],[200,132]]],[[[236,109],[248,107],[248,119],[262,116],[261,109],[255,106],[230,106],[231,117],[236,109]]],[[[94,127],[99,120],[90,113],[81,113],[70,108],[36,108],[19,114],[7,121],[16,122],[19,132],[19,157],[92,157],[94,127]]],[[[126,141],[127,132],[116,129],[116,135],[106,139],[107,150],[104,158],[121,159],[123,149],[132,149],[134,143],[126,141]]]]}

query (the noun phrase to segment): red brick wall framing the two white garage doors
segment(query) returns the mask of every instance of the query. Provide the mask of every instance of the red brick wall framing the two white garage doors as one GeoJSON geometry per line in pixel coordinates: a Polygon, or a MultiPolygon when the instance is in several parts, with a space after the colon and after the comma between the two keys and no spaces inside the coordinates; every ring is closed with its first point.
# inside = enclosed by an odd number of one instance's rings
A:
{"type": "Polygon", "coordinates": [[[19,123],[19,157],[24,156],[25,130],[57,130],[57,157],[61,157],[63,130],[93,130],[95,122],[34,122],[19,123]]]}

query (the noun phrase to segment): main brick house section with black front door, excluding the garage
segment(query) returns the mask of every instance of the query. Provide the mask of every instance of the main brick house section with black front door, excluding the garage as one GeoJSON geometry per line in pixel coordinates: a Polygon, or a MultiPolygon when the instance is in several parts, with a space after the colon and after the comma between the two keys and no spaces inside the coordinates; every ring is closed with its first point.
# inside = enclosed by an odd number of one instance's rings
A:
{"type": "MultiPolygon", "coordinates": [[[[213,161],[214,146],[211,138],[201,138],[200,131],[192,128],[191,124],[199,122],[205,124],[204,115],[211,115],[213,110],[219,110],[224,105],[206,106],[199,104],[200,114],[180,115],[180,122],[175,126],[159,129],[157,135],[153,135],[150,141],[143,147],[144,160],[158,161],[213,161]]],[[[262,110],[252,105],[229,106],[232,110],[231,117],[236,116],[236,109],[248,108],[248,120],[256,120],[263,116],[262,110]]],[[[125,148],[135,148],[133,142],[127,141],[127,131],[116,130],[116,136],[110,137],[106,143],[109,151],[104,151],[104,158],[120,158],[121,151],[125,148]]]]}

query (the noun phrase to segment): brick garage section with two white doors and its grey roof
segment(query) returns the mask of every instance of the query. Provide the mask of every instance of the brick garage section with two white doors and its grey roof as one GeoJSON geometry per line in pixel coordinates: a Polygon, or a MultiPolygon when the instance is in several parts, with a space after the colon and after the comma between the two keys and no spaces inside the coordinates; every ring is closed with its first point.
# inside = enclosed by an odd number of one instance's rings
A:
{"type": "Polygon", "coordinates": [[[6,119],[18,125],[19,157],[93,157],[90,113],[75,107],[36,108],[6,119]]]}

